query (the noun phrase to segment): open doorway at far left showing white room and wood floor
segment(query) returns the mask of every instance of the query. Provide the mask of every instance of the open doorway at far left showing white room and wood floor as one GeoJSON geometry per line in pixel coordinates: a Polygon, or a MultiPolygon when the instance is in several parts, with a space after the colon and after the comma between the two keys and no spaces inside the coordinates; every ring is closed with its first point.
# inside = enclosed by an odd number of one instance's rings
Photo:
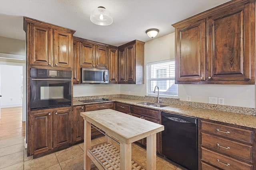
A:
{"type": "Polygon", "coordinates": [[[26,61],[0,60],[0,140],[25,136],[26,61]]]}

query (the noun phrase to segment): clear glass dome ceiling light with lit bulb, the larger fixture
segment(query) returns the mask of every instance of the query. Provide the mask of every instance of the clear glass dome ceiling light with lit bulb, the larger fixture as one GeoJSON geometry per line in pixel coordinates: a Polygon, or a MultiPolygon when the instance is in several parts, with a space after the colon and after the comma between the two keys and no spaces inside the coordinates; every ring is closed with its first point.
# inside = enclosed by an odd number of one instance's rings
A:
{"type": "Polygon", "coordinates": [[[110,25],[113,22],[112,14],[103,6],[91,12],[90,20],[96,25],[110,25]]]}

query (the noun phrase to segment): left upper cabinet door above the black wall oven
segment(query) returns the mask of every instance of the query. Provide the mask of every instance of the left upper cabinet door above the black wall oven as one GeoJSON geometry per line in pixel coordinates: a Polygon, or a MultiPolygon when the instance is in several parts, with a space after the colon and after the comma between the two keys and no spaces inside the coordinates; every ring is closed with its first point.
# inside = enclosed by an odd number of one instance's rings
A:
{"type": "Polygon", "coordinates": [[[52,66],[53,29],[41,25],[30,26],[30,65],[52,66]]]}

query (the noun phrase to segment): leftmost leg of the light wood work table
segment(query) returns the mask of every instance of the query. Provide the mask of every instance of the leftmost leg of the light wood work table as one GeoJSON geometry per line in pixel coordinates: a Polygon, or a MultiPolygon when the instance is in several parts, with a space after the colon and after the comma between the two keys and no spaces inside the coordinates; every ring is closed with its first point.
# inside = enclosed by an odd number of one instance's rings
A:
{"type": "Polygon", "coordinates": [[[84,170],[91,169],[91,160],[87,156],[88,149],[91,149],[91,125],[84,119],[84,170]]]}

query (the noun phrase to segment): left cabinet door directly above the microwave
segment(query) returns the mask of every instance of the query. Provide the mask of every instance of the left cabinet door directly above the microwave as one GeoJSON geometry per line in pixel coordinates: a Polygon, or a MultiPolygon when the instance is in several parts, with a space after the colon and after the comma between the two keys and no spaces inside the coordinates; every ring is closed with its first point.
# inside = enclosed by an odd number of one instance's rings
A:
{"type": "Polygon", "coordinates": [[[95,45],[80,43],[80,66],[95,67],[95,45]]]}

